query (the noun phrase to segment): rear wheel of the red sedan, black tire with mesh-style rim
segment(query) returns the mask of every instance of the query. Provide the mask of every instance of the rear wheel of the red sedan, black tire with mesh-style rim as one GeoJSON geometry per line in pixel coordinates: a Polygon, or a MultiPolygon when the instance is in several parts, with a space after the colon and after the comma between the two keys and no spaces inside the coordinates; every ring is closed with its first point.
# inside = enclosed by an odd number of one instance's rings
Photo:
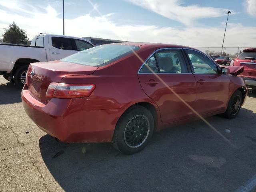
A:
{"type": "Polygon", "coordinates": [[[154,118],[151,112],[142,106],[129,108],[118,120],[112,145],[124,154],[141,151],[154,132],[154,118]]]}

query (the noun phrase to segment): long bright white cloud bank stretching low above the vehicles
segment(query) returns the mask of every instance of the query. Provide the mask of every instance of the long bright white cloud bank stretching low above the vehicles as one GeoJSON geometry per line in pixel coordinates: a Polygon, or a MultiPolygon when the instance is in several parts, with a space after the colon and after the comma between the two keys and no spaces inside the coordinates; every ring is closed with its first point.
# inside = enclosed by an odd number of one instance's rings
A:
{"type": "MultiPolygon", "coordinates": [[[[3,6],[1,1],[0,6],[3,6]]],[[[11,11],[1,10],[0,8],[0,28],[8,28],[8,25],[15,21],[18,26],[27,31],[30,38],[33,38],[39,32],[45,31],[49,34],[62,34],[62,18],[51,6],[46,6],[42,10],[34,7],[31,10],[36,11],[31,12],[29,15],[22,14],[26,10],[21,7],[17,6],[11,11]],[[19,14],[15,10],[18,10],[19,14]]],[[[76,18],[65,19],[65,34],[76,37],[92,36],[134,42],[159,42],[186,46],[220,47],[222,45],[224,26],[174,28],[155,25],[117,25],[111,21],[111,17],[113,17],[113,14],[101,16],[84,14],[76,18]]],[[[224,46],[255,45],[255,31],[256,27],[229,23],[224,46]]]]}

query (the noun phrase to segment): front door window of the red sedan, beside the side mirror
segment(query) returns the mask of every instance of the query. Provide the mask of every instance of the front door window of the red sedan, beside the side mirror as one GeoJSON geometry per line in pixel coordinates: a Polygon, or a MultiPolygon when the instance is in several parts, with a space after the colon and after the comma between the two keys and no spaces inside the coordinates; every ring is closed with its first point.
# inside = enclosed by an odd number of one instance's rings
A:
{"type": "Polygon", "coordinates": [[[186,50],[188,54],[188,58],[190,59],[194,73],[204,73],[204,74],[217,74],[218,67],[214,62],[212,62],[209,58],[204,56],[202,53],[186,50]]]}

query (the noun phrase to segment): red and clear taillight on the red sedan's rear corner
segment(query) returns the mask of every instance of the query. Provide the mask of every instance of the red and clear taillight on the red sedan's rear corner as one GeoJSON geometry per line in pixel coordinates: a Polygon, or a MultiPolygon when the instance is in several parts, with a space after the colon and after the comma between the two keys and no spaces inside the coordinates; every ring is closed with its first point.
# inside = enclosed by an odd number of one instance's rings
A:
{"type": "Polygon", "coordinates": [[[47,98],[79,98],[88,97],[95,89],[94,84],[50,83],[47,98]]]}

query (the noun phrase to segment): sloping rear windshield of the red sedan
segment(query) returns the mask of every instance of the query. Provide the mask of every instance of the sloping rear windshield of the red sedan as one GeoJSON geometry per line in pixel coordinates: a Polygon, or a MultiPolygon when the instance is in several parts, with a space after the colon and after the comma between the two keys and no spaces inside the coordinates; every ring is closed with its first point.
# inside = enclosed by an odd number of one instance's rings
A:
{"type": "Polygon", "coordinates": [[[61,61],[88,66],[104,66],[138,49],[138,46],[105,44],[68,56],[66,58],[63,58],[61,61]]]}

